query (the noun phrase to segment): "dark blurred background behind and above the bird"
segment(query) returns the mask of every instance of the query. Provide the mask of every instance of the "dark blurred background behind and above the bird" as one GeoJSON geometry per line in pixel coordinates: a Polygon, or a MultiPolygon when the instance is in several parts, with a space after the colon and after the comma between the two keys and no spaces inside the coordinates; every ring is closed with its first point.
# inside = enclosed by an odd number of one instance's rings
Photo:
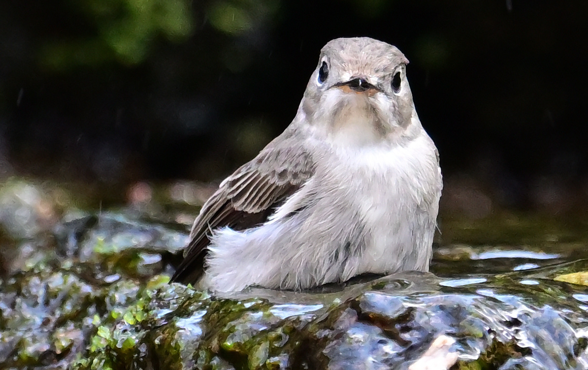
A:
{"type": "Polygon", "coordinates": [[[588,204],[586,1],[4,0],[0,179],[219,180],[292,120],[320,48],[400,48],[442,211],[588,204]]]}

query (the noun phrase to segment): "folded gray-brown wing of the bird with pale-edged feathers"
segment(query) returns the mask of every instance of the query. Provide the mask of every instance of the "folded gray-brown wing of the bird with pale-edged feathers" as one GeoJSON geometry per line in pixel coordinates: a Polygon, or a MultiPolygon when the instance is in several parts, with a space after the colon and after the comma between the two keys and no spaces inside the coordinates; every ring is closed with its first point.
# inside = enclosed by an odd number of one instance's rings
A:
{"type": "Polygon", "coordinates": [[[212,230],[225,226],[244,230],[264,223],[276,207],[312,176],[312,157],[302,138],[296,139],[291,132],[276,137],[257,157],[220,184],[194,221],[190,242],[172,281],[199,280],[212,230]]]}

